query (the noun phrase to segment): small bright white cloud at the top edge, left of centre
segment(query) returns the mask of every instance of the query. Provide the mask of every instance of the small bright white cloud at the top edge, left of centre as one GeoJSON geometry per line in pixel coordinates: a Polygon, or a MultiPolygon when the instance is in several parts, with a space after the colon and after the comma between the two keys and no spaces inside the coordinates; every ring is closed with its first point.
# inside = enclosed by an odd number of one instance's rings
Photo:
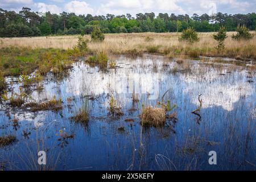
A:
{"type": "Polygon", "coordinates": [[[71,1],[64,6],[64,10],[69,13],[79,14],[94,14],[94,10],[85,1],[71,1]]]}

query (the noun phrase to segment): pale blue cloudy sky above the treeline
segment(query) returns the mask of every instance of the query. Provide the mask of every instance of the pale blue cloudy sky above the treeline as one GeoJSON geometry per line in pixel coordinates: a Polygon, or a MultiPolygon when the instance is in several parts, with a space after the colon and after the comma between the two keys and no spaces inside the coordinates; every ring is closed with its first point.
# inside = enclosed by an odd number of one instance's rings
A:
{"type": "Polygon", "coordinates": [[[247,14],[256,12],[256,0],[0,0],[0,8],[19,12],[22,7],[33,11],[77,15],[122,15],[130,13],[175,14],[247,14]]]}

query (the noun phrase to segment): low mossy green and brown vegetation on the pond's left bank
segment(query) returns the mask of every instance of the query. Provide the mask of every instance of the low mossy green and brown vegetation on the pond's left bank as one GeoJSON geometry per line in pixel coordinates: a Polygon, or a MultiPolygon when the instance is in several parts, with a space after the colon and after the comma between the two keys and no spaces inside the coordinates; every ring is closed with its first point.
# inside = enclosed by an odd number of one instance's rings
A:
{"type": "Polygon", "coordinates": [[[0,48],[0,72],[3,76],[27,75],[38,69],[45,75],[52,68],[63,71],[70,68],[74,57],[80,56],[80,49],[53,49],[30,47],[0,48]]]}

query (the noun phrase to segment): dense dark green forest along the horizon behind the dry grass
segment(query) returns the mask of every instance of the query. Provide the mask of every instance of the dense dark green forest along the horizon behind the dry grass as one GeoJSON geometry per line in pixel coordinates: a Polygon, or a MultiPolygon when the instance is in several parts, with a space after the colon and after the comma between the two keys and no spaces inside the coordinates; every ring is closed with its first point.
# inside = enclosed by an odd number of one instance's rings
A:
{"type": "Polygon", "coordinates": [[[188,27],[198,32],[217,31],[220,26],[227,31],[234,31],[238,24],[245,24],[249,30],[255,30],[256,14],[228,15],[217,13],[189,16],[168,15],[167,13],[139,13],[136,17],[130,14],[113,14],[93,16],[75,13],[51,14],[33,12],[23,7],[19,13],[0,9],[0,36],[40,36],[40,35],[72,35],[90,34],[95,26],[100,27],[104,33],[120,32],[180,32],[188,27]]]}

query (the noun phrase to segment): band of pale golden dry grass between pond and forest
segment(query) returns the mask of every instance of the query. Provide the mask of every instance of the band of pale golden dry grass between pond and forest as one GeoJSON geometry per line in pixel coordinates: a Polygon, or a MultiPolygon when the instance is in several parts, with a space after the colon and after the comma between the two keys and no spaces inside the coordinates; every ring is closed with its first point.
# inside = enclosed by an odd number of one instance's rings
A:
{"type": "MultiPolygon", "coordinates": [[[[252,32],[254,34],[254,32],[252,32]]],[[[214,47],[217,41],[212,38],[213,32],[199,33],[199,42],[189,44],[179,42],[180,33],[133,33],[133,34],[106,34],[104,42],[90,42],[88,48],[93,52],[104,50],[113,54],[137,54],[153,52],[168,55],[187,55],[196,57],[204,56],[227,56],[256,59],[256,36],[248,41],[232,40],[232,34],[228,32],[225,40],[226,49],[218,52],[214,47]],[[147,41],[147,38],[152,38],[147,41]]],[[[89,35],[85,35],[89,38],[89,35]]],[[[35,38],[2,38],[0,47],[22,46],[32,48],[72,48],[76,45],[78,36],[50,36],[35,38]]]]}

